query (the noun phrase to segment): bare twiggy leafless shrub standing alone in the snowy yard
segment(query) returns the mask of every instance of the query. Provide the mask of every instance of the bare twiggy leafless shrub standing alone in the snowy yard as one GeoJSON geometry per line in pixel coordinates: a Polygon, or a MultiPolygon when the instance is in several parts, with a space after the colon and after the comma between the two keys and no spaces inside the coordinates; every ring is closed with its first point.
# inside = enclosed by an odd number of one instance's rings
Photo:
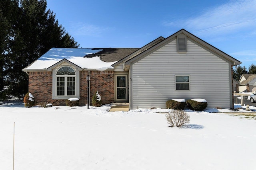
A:
{"type": "Polygon", "coordinates": [[[190,116],[183,110],[172,110],[165,115],[170,127],[181,127],[190,121],[190,116]]]}

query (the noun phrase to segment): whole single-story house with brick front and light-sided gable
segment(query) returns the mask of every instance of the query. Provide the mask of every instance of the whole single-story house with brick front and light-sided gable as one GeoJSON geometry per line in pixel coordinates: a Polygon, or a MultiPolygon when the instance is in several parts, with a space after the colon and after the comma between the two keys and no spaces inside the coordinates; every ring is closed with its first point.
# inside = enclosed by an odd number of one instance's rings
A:
{"type": "Polygon", "coordinates": [[[240,63],[181,29],[140,49],[52,48],[23,71],[37,102],[64,105],[75,97],[85,105],[87,93],[91,101],[98,91],[102,104],[129,102],[130,109],[166,108],[173,98],[204,98],[208,107],[232,108],[232,66],[240,63]]]}

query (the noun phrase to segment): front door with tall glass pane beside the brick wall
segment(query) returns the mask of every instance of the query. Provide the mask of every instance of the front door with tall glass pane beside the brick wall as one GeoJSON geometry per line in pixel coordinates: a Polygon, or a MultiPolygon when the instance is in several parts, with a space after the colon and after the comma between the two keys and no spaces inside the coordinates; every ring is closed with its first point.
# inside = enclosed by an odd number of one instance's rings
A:
{"type": "Polygon", "coordinates": [[[127,75],[116,75],[115,76],[116,82],[116,101],[128,101],[128,82],[127,82],[127,75]]]}

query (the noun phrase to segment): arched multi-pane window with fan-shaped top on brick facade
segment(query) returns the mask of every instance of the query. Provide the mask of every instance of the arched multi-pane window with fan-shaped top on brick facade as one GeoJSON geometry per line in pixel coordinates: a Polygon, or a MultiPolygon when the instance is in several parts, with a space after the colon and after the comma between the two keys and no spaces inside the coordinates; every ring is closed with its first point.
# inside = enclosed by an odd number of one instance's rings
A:
{"type": "Polygon", "coordinates": [[[56,73],[57,96],[76,95],[76,72],[69,66],[63,66],[56,73]]]}

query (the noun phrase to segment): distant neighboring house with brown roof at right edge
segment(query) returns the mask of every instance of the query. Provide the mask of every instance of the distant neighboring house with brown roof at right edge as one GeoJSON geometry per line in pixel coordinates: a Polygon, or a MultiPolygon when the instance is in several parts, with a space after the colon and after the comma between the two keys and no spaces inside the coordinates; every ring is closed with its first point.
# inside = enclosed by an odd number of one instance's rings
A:
{"type": "Polygon", "coordinates": [[[256,92],[256,74],[242,74],[238,88],[239,92],[256,92]]]}

